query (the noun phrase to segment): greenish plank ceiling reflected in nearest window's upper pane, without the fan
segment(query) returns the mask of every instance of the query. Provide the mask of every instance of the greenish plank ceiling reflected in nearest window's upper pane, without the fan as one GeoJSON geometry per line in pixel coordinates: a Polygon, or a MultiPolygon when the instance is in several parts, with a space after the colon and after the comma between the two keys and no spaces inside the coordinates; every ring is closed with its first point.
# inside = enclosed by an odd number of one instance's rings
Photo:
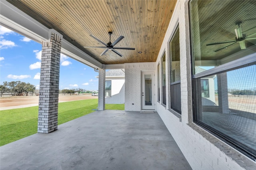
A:
{"type": "Polygon", "coordinates": [[[249,52],[249,50],[255,52],[256,0],[199,0],[198,2],[192,1],[190,7],[192,8],[192,20],[194,20],[192,28],[194,28],[196,60],[218,60],[244,50],[240,48],[238,42],[206,45],[214,42],[235,41],[235,29],[239,26],[246,38],[255,38],[245,40],[246,50],[243,52],[249,52]],[[239,26],[237,23],[240,23],[239,26]]]}

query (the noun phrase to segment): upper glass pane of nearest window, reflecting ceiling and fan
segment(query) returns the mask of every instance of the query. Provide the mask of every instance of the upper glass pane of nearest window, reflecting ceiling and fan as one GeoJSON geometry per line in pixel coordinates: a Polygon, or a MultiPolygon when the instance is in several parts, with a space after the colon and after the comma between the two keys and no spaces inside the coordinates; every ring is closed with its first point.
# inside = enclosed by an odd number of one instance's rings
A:
{"type": "Polygon", "coordinates": [[[255,53],[255,0],[192,0],[190,14],[194,74],[255,53]]]}

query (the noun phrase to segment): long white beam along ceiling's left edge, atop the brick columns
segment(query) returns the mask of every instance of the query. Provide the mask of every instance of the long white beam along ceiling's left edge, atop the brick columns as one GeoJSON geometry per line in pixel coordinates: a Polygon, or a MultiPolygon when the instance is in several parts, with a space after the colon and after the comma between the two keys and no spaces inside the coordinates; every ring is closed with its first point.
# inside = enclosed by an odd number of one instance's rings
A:
{"type": "MultiPolygon", "coordinates": [[[[49,39],[49,32],[52,32],[52,29],[49,30],[6,0],[0,0],[0,25],[41,44],[49,39]]],[[[102,69],[102,63],[64,39],[61,53],[90,67],[102,69]]]]}

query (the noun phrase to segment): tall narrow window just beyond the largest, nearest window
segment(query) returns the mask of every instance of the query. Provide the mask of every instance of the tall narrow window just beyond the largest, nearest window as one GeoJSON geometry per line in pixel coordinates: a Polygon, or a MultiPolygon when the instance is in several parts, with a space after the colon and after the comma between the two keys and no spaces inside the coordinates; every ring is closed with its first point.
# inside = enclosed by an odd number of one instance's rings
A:
{"type": "Polygon", "coordinates": [[[170,80],[171,109],[181,113],[181,92],[180,92],[180,30],[177,27],[174,36],[170,41],[170,80]]]}

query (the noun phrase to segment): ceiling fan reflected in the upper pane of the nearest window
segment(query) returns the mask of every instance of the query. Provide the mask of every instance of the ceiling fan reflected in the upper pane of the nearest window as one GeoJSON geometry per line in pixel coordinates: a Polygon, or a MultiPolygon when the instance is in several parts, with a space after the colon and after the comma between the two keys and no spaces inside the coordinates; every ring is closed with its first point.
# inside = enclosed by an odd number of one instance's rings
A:
{"type": "Polygon", "coordinates": [[[240,27],[240,24],[242,22],[237,22],[236,25],[238,25],[238,28],[235,29],[236,33],[236,40],[230,40],[230,41],[224,41],[224,42],[214,42],[214,43],[208,43],[206,45],[216,45],[216,44],[222,44],[222,43],[230,43],[220,49],[215,50],[214,52],[220,51],[221,49],[225,49],[230,45],[233,45],[235,43],[239,43],[241,49],[246,49],[246,40],[256,40],[256,37],[249,38],[250,36],[256,35],[256,33],[250,34],[249,36],[245,36],[245,34],[242,33],[242,29],[240,27]]]}

